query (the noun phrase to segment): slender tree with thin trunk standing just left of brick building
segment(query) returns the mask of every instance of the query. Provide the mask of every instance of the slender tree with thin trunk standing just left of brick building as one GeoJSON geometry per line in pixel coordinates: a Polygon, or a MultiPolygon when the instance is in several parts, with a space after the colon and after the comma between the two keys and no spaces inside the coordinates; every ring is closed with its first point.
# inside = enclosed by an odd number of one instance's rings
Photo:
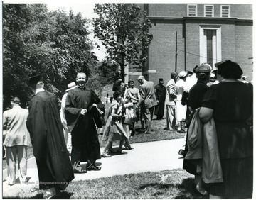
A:
{"type": "Polygon", "coordinates": [[[94,33],[107,49],[107,59],[116,61],[121,68],[131,63],[142,67],[152,39],[151,23],[146,13],[136,4],[95,4],[94,33]]]}

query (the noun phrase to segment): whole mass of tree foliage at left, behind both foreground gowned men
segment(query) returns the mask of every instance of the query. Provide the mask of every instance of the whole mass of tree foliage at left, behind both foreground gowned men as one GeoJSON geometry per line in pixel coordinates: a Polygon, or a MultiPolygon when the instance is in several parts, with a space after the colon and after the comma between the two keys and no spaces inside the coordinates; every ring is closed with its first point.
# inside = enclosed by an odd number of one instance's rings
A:
{"type": "Polygon", "coordinates": [[[81,14],[48,12],[46,4],[3,4],[4,109],[11,96],[31,98],[29,74],[42,74],[46,89],[63,94],[77,72],[91,75],[97,57],[81,14]]]}

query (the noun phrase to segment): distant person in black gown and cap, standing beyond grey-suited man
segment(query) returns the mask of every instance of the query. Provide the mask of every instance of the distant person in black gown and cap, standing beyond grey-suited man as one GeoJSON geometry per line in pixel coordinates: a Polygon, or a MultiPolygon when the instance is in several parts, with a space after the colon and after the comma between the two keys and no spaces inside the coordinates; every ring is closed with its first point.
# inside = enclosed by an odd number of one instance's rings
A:
{"type": "Polygon", "coordinates": [[[159,79],[159,84],[155,87],[156,100],[158,104],[155,107],[155,115],[157,119],[161,119],[164,116],[164,103],[166,99],[166,87],[164,87],[164,79],[159,79]]]}

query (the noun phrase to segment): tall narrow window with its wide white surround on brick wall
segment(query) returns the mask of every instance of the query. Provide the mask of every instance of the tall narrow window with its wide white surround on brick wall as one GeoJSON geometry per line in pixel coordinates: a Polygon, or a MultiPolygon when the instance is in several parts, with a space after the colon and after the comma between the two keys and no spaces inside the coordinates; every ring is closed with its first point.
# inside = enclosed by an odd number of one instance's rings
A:
{"type": "Polygon", "coordinates": [[[214,68],[221,61],[221,26],[200,26],[200,63],[207,62],[214,68]]]}

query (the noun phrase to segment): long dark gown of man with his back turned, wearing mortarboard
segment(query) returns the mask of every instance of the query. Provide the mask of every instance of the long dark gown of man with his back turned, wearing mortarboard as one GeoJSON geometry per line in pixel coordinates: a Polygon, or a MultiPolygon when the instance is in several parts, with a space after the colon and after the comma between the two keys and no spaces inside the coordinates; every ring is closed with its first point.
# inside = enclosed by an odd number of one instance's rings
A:
{"type": "Polygon", "coordinates": [[[74,179],[65,145],[58,100],[48,91],[31,99],[26,121],[38,167],[39,189],[65,189],[74,179]]]}

